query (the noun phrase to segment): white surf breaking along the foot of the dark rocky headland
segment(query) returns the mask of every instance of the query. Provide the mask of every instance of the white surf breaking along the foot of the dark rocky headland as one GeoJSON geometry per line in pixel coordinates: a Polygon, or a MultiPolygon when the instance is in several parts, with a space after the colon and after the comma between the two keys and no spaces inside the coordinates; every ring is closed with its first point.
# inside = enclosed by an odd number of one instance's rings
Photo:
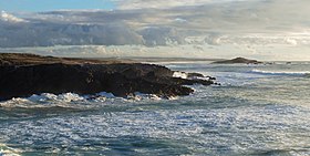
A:
{"type": "Polygon", "coordinates": [[[14,97],[9,101],[0,102],[0,107],[24,107],[24,108],[38,108],[38,107],[85,107],[100,104],[108,104],[115,100],[120,102],[137,102],[144,100],[158,101],[158,100],[176,100],[170,96],[157,96],[154,94],[143,94],[135,92],[127,95],[127,97],[116,97],[112,93],[101,92],[93,95],[79,95],[75,93],[52,94],[42,93],[33,94],[30,97],[14,97]]]}

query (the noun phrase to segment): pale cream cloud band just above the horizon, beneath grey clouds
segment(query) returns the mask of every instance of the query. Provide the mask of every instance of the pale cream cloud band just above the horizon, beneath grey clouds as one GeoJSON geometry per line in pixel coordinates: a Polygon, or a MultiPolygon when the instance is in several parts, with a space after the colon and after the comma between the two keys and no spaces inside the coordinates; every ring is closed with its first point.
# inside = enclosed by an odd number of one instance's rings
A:
{"type": "Polygon", "coordinates": [[[225,44],[210,45],[178,45],[178,46],[144,46],[144,45],[74,45],[48,48],[10,48],[0,52],[25,52],[56,56],[78,58],[196,58],[196,59],[231,59],[236,56],[252,58],[265,61],[309,61],[309,46],[235,46],[225,44]]]}

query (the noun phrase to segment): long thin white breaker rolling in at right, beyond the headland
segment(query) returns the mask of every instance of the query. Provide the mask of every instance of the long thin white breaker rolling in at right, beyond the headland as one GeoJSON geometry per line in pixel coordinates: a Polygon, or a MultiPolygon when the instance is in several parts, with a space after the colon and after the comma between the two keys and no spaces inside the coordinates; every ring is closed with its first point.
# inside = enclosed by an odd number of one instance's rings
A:
{"type": "Polygon", "coordinates": [[[310,75],[310,71],[262,71],[262,70],[252,70],[251,73],[265,74],[265,75],[291,75],[291,76],[310,75]]]}

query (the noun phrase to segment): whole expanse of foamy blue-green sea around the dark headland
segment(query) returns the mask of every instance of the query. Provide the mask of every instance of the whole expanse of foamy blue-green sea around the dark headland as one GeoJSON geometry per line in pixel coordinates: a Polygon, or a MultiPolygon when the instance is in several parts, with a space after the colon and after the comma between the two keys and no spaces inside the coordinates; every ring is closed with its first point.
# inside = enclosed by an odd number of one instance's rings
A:
{"type": "Polygon", "coordinates": [[[310,64],[164,65],[221,86],[194,85],[174,100],[66,93],[1,102],[0,155],[310,155],[310,64]]]}

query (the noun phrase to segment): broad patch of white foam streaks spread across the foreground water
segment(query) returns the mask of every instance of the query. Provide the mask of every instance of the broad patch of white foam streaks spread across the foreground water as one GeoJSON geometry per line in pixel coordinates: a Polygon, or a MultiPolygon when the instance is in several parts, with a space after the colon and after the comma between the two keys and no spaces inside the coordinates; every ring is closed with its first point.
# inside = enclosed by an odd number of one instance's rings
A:
{"type": "Polygon", "coordinates": [[[310,131],[308,113],[300,113],[298,107],[280,105],[234,110],[111,112],[4,124],[0,127],[0,134],[29,146],[50,146],[54,143],[84,145],[87,144],[85,138],[96,142],[99,138],[135,136],[179,141],[180,145],[196,154],[250,154],[273,148],[293,154],[302,150],[307,153],[310,142],[307,133],[310,131]]]}

